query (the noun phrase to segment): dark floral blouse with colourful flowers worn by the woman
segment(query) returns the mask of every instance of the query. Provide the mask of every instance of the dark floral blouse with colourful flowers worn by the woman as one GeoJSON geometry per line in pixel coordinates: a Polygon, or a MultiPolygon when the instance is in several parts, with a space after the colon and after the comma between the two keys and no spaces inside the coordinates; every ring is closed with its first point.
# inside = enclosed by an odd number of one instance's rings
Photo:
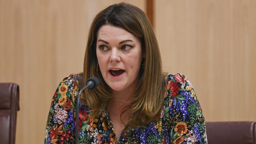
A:
{"type": "MultiPolygon", "coordinates": [[[[207,144],[202,109],[189,80],[182,74],[167,75],[167,94],[161,116],[143,127],[124,127],[119,142],[107,109],[98,117],[80,105],[80,144],[207,144]]],[[[53,96],[46,123],[45,144],[72,144],[76,131],[74,75],[64,78],[53,96]]]]}

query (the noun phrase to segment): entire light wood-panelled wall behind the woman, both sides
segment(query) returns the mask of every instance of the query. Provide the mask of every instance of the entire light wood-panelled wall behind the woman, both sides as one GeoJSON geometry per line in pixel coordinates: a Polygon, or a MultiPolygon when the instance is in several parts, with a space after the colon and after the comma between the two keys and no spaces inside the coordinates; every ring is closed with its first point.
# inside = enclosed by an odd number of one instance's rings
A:
{"type": "MultiPolygon", "coordinates": [[[[20,85],[17,144],[43,142],[54,91],[82,72],[96,13],[120,0],[0,0],[0,82],[20,85]]],[[[193,84],[206,121],[256,121],[255,0],[127,0],[153,24],[163,67],[193,84]]]]}

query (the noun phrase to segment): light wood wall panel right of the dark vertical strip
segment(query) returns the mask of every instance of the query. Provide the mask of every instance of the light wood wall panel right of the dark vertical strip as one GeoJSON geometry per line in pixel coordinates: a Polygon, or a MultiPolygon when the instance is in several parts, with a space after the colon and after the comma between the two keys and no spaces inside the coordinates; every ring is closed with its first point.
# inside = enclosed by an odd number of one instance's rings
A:
{"type": "Polygon", "coordinates": [[[186,75],[206,121],[256,121],[256,1],[157,0],[163,66],[186,75]]]}

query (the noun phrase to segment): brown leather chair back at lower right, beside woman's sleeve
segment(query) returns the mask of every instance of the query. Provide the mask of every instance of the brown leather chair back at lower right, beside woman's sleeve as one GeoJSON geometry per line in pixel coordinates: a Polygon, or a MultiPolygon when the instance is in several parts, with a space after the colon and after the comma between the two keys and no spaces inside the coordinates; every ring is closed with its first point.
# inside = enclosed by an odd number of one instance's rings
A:
{"type": "Polygon", "coordinates": [[[256,144],[256,122],[206,122],[208,144],[256,144]]]}

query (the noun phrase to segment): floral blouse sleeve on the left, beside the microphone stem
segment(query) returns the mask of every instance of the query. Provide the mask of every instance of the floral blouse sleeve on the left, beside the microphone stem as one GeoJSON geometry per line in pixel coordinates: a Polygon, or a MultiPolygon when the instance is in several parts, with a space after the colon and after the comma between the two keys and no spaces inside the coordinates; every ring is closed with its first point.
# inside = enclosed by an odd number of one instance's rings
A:
{"type": "Polygon", "coordinates": [[[52,98],[46,122],[45,144],[75,142],[75,95],[77,87],[70,75],[61,81],[52,98]]]}

